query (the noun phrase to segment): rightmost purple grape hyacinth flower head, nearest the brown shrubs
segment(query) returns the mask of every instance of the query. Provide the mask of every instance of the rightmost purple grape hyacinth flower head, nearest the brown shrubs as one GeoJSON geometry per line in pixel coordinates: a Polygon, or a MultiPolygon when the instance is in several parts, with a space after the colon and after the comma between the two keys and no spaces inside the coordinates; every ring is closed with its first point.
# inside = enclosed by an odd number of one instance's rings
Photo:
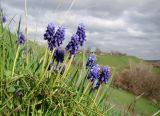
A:
{"type": "Polygon", "coordinates": [[[110,67],[103,67],[99,81],[101,83],[104,82],[105,84],[107,84],[110,76],[110,67]]]}

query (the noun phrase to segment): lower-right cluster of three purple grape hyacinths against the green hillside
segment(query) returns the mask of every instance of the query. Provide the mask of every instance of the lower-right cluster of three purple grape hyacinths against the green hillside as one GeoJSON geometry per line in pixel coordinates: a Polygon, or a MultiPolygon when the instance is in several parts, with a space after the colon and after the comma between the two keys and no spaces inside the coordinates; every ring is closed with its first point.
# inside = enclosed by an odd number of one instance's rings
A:
{"type": "Polygon", "coordinates": [[[107,84],[109,77],[111,76],[110,68],[106,66],[100,71],[100,66],[96,64],[96,56],[94,54],[89,56],[86,66],[90,68],[88,79],[91,80],[95,89],[98,89],[102,83],[107,84]]]}

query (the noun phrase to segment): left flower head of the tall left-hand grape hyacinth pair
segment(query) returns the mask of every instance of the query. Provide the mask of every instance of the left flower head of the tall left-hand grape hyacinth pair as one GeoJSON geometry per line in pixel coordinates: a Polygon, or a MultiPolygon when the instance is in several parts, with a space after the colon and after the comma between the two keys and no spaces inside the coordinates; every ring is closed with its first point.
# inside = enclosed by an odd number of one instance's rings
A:
{"type": "Polygon", "coordinates": [[[53,23],[49,23],[47,26],[46,33],[44,34],[44,40],[48,40],[48,42],[50,42],[54,37],[54,33],[55,25],[53,23]]]}

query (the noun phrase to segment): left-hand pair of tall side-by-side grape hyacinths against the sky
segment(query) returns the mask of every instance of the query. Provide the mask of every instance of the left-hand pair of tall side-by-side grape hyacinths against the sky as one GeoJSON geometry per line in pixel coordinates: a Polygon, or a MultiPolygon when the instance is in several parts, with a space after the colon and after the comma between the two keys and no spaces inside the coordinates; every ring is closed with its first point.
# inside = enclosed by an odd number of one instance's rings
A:
{"type": "Polygon", "coordinates": [[[48,48],[50,50],[53,50],[55,47],[59,47],[65,39],[65,28],[61,26],[55,32],[55,25],[53,23],[49,23],[46,33],[44,34],[44,39],[48,41],[48,48]]]}

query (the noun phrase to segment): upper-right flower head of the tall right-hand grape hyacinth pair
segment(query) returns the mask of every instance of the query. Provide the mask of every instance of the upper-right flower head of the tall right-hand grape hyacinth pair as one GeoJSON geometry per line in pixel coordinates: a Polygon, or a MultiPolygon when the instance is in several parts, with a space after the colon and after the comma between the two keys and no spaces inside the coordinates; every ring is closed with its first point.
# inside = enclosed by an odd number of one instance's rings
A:
{"type": "Polygon", "coordinates": [[[76,34],[79,36],[79,44],[83,46],[84,41],[86,41],[86,33],[85,33],[85,26],[81,23],[78,25],[78,29],[76,34]]]}

